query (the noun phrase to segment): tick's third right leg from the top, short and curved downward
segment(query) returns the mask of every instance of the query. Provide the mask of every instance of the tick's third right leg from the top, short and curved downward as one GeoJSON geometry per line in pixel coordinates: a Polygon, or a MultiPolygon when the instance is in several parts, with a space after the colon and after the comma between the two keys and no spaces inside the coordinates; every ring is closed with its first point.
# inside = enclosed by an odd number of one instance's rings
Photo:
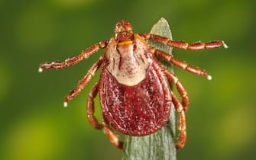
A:
{"type": "Polygon", "coordinates": [[[177,76],[173,75],[167,69],[165,69],[164,72],[167,75],[167,78],[170,79],[170,82],[172,82],[173,85],[176,85],[177,90],[179,91],[180,97],[182,98],[183,110],[186,112],[190,103],[189,97],[187,96],[187,93],[186,93],[186,89],[184,88],[182,83],[179,81],[179,78],[177,78],[177,76]]]}

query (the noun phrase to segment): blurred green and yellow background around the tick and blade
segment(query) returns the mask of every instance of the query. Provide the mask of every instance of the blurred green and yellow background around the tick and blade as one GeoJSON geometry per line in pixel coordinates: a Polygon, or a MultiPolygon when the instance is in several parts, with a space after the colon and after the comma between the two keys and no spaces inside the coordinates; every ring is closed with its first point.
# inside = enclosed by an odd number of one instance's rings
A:
{"type": "Polygon", "coordinates": [[[212,75],[209,82],[175,68],[190,95],[188,139],[177,158],[256,159],[255,5],[249,0],[1,0],[0,159],[121,159],[122,152],[87,121],[86,99],[99,72],[63,107],[64,96],[102,51],[58,71],[38,73],[38,65],[109,40],[119,20],[143,33],[161,17],[174,40],[225,40],[229,46],[173,50],[212,75]]]}

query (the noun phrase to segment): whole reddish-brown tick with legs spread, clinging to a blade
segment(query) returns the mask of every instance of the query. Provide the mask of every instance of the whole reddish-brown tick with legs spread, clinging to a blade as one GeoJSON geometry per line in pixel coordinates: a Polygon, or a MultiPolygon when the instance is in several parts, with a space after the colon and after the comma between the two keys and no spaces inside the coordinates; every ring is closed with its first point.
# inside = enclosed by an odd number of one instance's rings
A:
{"type": "Polygon", "coordinates": [[[173,103],[178,113],[177,125],[180,136],[177,139],[177,149],[180,149],[186,142],[185,112],[189,98],[179,79],[164,69],[156,56],[189,72],[206,76],[209,79],[212,77],[203,69],[189,66],[173,55],[155,49],[147,43],[148,39],[185,50],[227,47],[223,41],[189,44],[155,34],[134,34],[128,21],[120,21],[115,25],[115,37],[90,46],[78,56],[66,59],[64,62],[43,63],[39,67],[39,72],[44,69],[62,69],[72,66],[89,58],[97,50],[105,49],[105,53],[79,81],[76,88],[64,98],[64,106],[66,107],[67,102],[75,98],[86,87],[92,76],[102,66],[99,82],[89,92],[87,102],[89,123],[96,129],[103,129],[110,141],[122,149],[123,143],[118,140],[112,128],[131,136],[146,136],[154,133],[167,123],[170,106],[173,103]],[[170,90],[169,81],[177,86],[177,91],[182,98],[181,102],[170,90]],[[94,116],[93,101],[98,92],[102,108],[102,124],[98,123],[94,116]]]}

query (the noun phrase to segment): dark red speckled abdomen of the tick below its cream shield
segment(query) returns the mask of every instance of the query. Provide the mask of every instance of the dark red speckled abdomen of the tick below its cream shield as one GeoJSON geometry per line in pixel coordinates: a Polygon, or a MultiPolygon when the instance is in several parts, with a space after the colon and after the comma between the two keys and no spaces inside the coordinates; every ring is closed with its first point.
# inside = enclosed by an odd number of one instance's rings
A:
{"type": "Polygon", "coordinates": [[[170,87],[158,62],[152,62],[144,80],[134,86],[119,84],[103,66],[99,96],[103,118],[127,135],[154,133],[170,116],[170,87]]]}

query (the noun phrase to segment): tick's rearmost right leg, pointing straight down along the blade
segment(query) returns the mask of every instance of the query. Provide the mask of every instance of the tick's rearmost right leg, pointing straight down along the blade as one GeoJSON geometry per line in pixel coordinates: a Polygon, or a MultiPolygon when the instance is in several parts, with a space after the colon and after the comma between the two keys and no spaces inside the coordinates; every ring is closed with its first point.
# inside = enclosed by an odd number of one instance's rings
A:
{"type": "Polygon", "coordinates": [[[185,110],[183,109],[183,106],[180,104],[180,101],[176,97],[175,94],[173,94],[173,91],[171,91],[171,98],[174,104],[174,107],[176,108],[178,112],[178,130],[180,131],[180,136],[178,138],[176,148],[182,149],[183,146],[185,146],[186,143],[186,117],[185,117],[185,110]]]}

